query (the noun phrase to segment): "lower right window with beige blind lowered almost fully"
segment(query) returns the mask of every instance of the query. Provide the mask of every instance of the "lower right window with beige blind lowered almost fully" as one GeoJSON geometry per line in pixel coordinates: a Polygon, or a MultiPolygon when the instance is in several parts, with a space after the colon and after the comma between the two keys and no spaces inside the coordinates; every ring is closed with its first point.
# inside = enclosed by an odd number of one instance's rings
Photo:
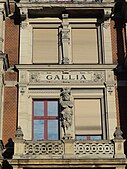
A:
{"type": "Polygon", "coordinates": [[[102,138],[100,99],[75,99],[75,133],[77,140],[102,138]]]}

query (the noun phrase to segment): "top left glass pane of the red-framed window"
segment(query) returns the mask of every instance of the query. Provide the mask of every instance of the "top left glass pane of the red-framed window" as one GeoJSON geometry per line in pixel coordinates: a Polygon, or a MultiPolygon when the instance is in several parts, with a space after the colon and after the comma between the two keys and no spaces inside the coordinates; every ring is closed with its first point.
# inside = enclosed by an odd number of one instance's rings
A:
{"type": "Polygon", "coordinates": [[[44,102],[34,102],[34,116],[44,116],[44,102]]]}

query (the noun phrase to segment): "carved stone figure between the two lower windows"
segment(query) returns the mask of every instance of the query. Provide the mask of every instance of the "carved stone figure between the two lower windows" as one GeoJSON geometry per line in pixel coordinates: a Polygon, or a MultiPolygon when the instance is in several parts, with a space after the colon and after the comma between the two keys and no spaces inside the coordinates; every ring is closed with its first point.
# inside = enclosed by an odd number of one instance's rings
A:
{"type": "Polygon", "coordinates": [[[72,107],[73,102],[71,98],[71,91],[69,88],[63,88],[60,94],[60,104],[61,104],[61,121],[64,130],[64,139],[71,138],[71,126],[72,126],[72,107]]]}

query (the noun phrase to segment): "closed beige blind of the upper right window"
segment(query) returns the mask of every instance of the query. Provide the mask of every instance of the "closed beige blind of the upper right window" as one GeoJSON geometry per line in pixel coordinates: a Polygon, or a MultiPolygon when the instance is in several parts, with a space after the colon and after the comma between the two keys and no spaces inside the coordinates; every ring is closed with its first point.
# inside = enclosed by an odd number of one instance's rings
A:
{"type": "Polygon", "coordinates": [[[98,63],[96,29],[72,29],[73,63],[98,63]]]}

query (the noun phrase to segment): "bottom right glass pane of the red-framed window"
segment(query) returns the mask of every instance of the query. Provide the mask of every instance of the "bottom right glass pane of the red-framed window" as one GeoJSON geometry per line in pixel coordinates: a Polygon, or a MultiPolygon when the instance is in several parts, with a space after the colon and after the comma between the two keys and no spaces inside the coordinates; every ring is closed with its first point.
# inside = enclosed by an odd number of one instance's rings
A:
{"type": "Polygon", "coordinates": [[[58,120],[48,120],[48,140],[58,140],[58,120]]]}

